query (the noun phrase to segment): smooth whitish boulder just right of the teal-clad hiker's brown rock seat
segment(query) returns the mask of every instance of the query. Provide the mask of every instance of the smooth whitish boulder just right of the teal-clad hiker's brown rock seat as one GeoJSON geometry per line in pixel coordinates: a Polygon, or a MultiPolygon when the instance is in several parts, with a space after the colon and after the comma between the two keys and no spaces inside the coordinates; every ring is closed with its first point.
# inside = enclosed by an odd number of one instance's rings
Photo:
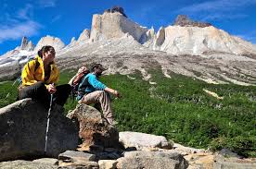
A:
{"type": "Polygon", "coordinates": [[[119,140],[124,148],[135,147],[137,150],[143,148],[171,149],[172,144],[163,136],[150,135],[146,133],[125,131],[119,133],[119,140]]]}

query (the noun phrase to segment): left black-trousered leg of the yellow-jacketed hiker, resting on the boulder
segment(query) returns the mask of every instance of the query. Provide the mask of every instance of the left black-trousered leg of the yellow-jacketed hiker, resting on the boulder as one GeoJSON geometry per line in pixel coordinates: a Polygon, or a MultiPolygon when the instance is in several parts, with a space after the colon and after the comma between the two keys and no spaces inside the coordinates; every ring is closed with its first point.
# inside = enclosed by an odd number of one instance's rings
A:
{"type": "Polygon", "coordinates": [[[48,105],[50,102],[50,94],[46,90],[45,83],[42,81],[36,82],[31,86],[22,88],[19,91],[19,100],[25,98],[32,98],[32,100],[39,101],[48,105]]]}

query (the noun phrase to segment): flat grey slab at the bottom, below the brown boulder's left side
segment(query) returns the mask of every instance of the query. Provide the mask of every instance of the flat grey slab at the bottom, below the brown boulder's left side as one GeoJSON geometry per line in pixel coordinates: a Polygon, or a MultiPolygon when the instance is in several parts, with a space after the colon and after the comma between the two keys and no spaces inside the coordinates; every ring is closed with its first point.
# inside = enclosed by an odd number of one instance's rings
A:
{"type": "Polygon", "coordinates": [[[80,152],[80,151],[65,151],[58,155],[58,160],[66,162],[89,162],[94,161],[96,158],[95,154],[80,152]]]}

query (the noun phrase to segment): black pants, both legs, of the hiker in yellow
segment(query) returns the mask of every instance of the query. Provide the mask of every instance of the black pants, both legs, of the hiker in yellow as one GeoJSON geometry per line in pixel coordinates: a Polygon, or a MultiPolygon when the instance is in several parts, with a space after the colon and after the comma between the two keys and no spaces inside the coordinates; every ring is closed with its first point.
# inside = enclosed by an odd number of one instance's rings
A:
{"type": "MultiPolygon", "coordinates": [[[[71,87],[69,84],[64,84],[56,87],[57,91],[53,94],[53,101],[63,106],[69,98],[71,87]]],[[[50,105],[51,94],[47,91],[45,83],[42,81],[36,82],[31,86],[24,87],[19,91],[19,100],[32,98],[32,100],[43,103],[46,107],[50,105]]]]}

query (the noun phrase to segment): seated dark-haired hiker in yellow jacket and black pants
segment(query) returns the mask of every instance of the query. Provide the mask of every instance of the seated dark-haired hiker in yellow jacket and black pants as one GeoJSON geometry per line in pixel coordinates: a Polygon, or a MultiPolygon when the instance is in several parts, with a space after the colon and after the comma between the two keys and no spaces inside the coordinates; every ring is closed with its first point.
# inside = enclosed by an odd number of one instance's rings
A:
{"type": "Polygon", "coordinates": [[[56,87],[59,70],[54,61],[55,54],[54,47],[43,46],[35,58],[23,67],[19,100],[32,98],[47,107],[50,104],[50,95],[53,94],[54,103],[61,106],[66,103],[71,88],[69,84],[56,87]]]}

